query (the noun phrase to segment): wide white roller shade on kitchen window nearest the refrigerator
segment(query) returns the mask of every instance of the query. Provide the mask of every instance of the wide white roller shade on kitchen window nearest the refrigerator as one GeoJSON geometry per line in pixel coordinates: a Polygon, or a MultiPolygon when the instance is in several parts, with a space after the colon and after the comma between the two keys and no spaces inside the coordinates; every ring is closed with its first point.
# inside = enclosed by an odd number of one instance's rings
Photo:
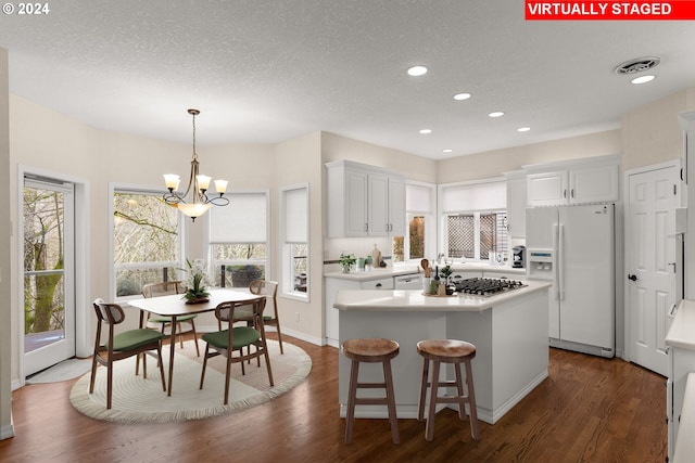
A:
{"type": "Polygon", "coordinates": [[[507,184],[505,181],[473,183],[442,189],[444,213],[495,210],[507,207],[507,184]]]}

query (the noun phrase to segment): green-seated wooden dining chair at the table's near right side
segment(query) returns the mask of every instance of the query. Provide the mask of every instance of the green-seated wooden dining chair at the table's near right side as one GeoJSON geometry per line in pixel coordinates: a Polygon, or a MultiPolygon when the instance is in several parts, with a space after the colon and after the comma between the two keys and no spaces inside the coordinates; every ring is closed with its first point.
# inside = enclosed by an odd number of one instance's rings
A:
{"type": "Polygon", "coordinates": [[[265,338],[265,327],[263,324],[263,311],[265,310],[266,299],[257,299],[251,303],[222,303],[215,308],[215,317],[220,323],[228,326],[227,330],[215,333],[206,333],[202,339],[205,344],[205,355],[203,357],[203,371],[200,375],[200,388],[203,388],[205,381],[205,369],[207,368],[207,359],[225,356],[227,358],[227,368],[225,372],[225,401],[229,403],[229,384],[231,383],[231,364],[241,363],[241,374],[245,374],[244,361],[261,357],[265,357],[266,369],[268,370],[268,380],[270,386],[273,383],[273,370],[270,368],[270,356],[268,355],[268,346],[265,338]],[[237,313],[235,311],[240,309],[237,313]],[[250,325],[233,326],[235,321],[247,321],[250,325]],[[252,352],[250,347],[255,346],[252,352]],[[243,348],[247,347],[244,355],[243,348]],[[237,352],[237,353],[235,353],[237,352]]]}

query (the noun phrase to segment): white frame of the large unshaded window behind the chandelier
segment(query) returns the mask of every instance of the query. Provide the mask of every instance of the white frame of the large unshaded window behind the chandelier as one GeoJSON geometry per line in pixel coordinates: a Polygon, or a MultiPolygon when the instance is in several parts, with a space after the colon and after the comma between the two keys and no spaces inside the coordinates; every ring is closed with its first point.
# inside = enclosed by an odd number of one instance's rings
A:
{"type": "MultiPolygon", "coordinates": [[[[115,257],[115,243],[114,243],[114,204],[113,198],[116,193],[125,193],[125,194],[141,194],[141,195],[151,195],[151,196],[162,196],[162,190],[155,189],[152,187],[144,187],[131,183],[109,183],[109,294],[110,300],[115,303],[127,303],[128,300],[138,299],[142,296],[140,295],[130,295],[130,296],[117,296],[116,288],[116,274],[119,269],[116,269],[116,265],[114,262],[115,257]]],[[[187,235],[187,222],[184,220],[185,216],[177,211],[177,220],[178,220],[178,239],[177,239],[177,249],[176,253],[178,255],[178,261],[169,261],[163,262],[168,263],[166,267],[175,267],[177,269],[182,268],[184,262],[184,252],[185,252],[185,243],[187,235]],[[170,266],[169,266],[170,265],[170,266]]],[[[142,268],[152,268],[152,266],[147,263],[128,263],[123,267],[124,269],[142,269],[142,268]]],[[[180,271],[177,274],[172,275],[172,280],[178,280],[181,278],[180,271]]]]}

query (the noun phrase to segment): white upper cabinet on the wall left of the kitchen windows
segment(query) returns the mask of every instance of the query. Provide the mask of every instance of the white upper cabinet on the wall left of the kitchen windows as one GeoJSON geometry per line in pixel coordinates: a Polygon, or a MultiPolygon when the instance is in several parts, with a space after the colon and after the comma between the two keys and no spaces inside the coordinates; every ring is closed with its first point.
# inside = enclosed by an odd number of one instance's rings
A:
{"type": "Polygon", "coordinates": [[[403,175],[350,160],[336,160],[326,167],[328,236],[404,234],[403,175]]]}

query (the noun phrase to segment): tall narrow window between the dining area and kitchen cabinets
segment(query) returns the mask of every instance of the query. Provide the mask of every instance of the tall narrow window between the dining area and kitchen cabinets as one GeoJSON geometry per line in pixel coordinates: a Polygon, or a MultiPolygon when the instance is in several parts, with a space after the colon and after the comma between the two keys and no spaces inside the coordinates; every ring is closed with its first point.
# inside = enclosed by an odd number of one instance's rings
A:
{"type": "Polygon", "coordinates": [[[282,293],[308,295],[308,185],[288,187],[280,192],[282,221],[282,293]]]}

